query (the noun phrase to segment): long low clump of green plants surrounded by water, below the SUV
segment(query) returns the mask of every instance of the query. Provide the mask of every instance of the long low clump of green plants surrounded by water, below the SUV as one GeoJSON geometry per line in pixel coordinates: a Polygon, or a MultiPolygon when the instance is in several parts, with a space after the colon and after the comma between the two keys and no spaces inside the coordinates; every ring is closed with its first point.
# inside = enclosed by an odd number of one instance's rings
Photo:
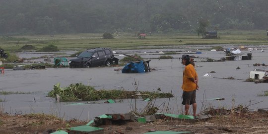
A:
{"type": "MultiPolygon", "coordinates": [[[[173,97],[171,93],[159,93],[140,91],[141,94],[147,94],[155,98],[173,97]]],[[[58,94],[61,101],[96,101],[104,99],[127,99],[132,98],[136,94],[135,91],[125,90],[95,90],[92,86],[83,85],[81,83],[70,84],[68,87],[60,87],[60,83],[54,85],[54,90],[48,93],[48,97],[56,97],[58,94]]],[[[147,96],[147,97],[148,97],[147,96]]]]}

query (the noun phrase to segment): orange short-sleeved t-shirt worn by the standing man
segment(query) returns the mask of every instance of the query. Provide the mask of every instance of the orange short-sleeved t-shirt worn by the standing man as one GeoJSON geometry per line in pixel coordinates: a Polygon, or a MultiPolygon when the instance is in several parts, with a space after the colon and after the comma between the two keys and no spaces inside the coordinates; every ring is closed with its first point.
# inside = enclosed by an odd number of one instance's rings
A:
{"type": "Polygon", "coordinates": [[[190,80],[190,78],[194,78],[198,76],[195,67],[192,64],[189,64],[185,67],[183,71],[183,91],[194,91],[197,89],[196,83],[190,80]]]}

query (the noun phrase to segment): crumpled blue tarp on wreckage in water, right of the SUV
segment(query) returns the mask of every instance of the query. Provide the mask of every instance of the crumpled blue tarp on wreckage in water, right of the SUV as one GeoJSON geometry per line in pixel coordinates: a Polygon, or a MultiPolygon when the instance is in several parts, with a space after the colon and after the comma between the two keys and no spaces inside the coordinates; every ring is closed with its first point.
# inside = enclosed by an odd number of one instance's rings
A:
{"type": "Polygon", "coordinates": [[[143,61],[140,61],[139,63],[128,63],[123,69],[122,73],[144,73],[145,67],[143,65],[143,61]]]}

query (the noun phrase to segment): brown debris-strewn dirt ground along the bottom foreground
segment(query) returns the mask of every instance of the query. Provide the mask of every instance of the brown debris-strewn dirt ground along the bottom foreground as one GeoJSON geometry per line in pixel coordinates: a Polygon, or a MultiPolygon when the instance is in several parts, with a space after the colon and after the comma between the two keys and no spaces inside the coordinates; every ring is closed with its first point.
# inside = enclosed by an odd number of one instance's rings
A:
{"type": "MultiPolygon", "coordinates": [[[[85,125],[87,122],[61,121],[51,115],[0,114],[0,134],[49,134],[56,130],[85,125]]],[[[104,134],[143,134],[149,131],[187,131],[195,134],[268,134],[268,112],[230,112],[207,121],[157,120],[153,123],[126,122],[104,125],[104,134]]]]}

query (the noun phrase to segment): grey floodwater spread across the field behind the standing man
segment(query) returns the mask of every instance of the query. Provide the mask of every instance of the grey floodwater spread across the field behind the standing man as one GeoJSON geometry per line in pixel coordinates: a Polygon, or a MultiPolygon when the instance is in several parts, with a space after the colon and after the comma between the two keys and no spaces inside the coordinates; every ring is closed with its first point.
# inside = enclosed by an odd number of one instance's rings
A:
{"type": "MultiPolygon", "coordinates": [[[[236,47],[225,45],[227,47],[236,47]]],[[[268,90],[268,83],[244,82],[249,78],[250,70],[255,63],[268,64],[268,49],[266,46],[246,46],[257,48],[252,52],[247,50],[242,53],[252,53],[253,59],[246,61],[226,62],[201,62],[203,58],[219,60],[225,56],[224,52],[201,51],[196,54],[197,49],[211,48],[207,46],[194,46],[191,48],[165,48],[165,49],[142,49],[142,50],[114,50],[117,58],[122,59],[122,54],[140,54],[143,58],[151,59],[149,65],[152,70],[148,73],[121,73],[114,69],[122,67],[93,67],[93,68],[47,68],[35,70],[12,70],[5,69],[0,75],[0,90],[12,92],[30,92],[29,94],[0,95],[4,100],[0,108],[9,114],[47,113],[54,114],[65,119],[91,120],[102,114],[127,113],[134,107],[134,100],[126,99],[123,102],[114,104],[103,103],[100,100],[96,103],[87,102],[55,102],[54,98],[46,97],[47,93],[53,90],[53,85],[61,83],[66,87],[71,83],[83,83],[99,89],[125,89],[134,90],[134,82],[138,83],[140,91],[172,92],[173,98],[156,99],[155,106],[159,107],[158,112],[173,114],[182,113],[182,75],[183,66],[180,57],[189,53],[196,58],[196,70],[199,74],[200,90],[197,91],[198,112],[203,110],[203,105],[214,108],[231,108],[232,106],[249,106],[251,110],[268,108],[268,97],[261,97],[263,91],[268,90]],[[264,49],[265,52],[261,52],[264,49]],[[175,59],[158,60],[160,51],[182,51],[181,54],[171,55],[175,59]],[[188,52],[189,51],[189,52],[188,52]],[[191,51],[191,52],[190,52],[191,51]],[[155,59],[153,59],[155,58],[155,59]],[[241,69],[236,69],[240,67],[241,69]],[[215,73],[210,73],[215,71],[215,73]],[[210,77],[203,76],[209,73],[210,77]],[[227,77],[235,79],[222,79],[227,77]],[[212,101],[211,98],[225,98],[222,101],[212,101]],[[83,105],[71,105],[73,103],[85,103],[83,105]],[[257,103],[257,104],[255,104],[257,103]],[[252,105],[253,104],[253,105],[252,105]],[[167,108],[168,107],[168,108],[167,108]],[[167,110],[167,111],[166,111],[167,110]]],[[[20,58],[30,57],[31,53],[20,53],[20,58]]],[[[46,54],[44,54],[46,55],[46,54]]],[[[33,56],[35,57],[35,56],[33,56]]],[[[40,59],[43,60],[43,59],[40,59]]],[[[138,111],[142,110],[147,102],[138,100],[136,106],[138,111]]]]}

